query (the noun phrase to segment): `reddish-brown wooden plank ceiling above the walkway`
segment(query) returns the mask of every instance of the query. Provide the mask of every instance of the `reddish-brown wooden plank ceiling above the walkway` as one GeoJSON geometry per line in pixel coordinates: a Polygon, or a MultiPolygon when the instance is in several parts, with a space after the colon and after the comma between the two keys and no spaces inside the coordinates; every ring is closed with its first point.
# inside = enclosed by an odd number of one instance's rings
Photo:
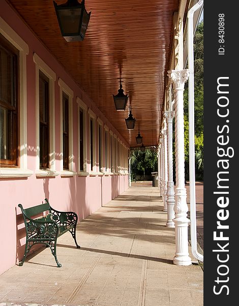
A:
{"type": "Polygon", "coordinates": [[[9,2],[130,146],[136,146],[138,127],[144,145],[158,144],[178,0],[85,0],[92,13],[83,42],[61,36],[52,0],[9,2]],[[129,100],[126,111],[114,107],[119,66],[137,120],[134,130],[125,123],[129,100]]]}

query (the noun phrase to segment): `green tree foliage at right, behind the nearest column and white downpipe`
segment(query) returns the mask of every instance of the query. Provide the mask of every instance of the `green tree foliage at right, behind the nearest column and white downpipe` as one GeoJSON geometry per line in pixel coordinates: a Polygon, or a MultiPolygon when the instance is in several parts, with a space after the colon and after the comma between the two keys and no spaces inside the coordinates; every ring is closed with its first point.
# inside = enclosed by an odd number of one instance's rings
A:
{"type": "MultiPolygon", "coordinates": [[[[189,123],[188,87],[184,91],[184,146],[185,174],[189,179],[189,123]]],[[[203,21],[198,24],[194,37],[194,108],[195,108],[195,159],[196,178],[203,180],[203,21]]]]}

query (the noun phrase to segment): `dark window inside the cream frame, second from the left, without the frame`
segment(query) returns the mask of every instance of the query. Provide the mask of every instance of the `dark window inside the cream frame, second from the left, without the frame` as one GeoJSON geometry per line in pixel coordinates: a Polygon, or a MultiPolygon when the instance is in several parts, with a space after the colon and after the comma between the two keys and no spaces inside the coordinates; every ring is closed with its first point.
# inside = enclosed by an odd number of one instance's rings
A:
{"type": "Polygon", "coordinates": [[[39,71],[40,169],[49,168],[49,79],[39,71]]]}

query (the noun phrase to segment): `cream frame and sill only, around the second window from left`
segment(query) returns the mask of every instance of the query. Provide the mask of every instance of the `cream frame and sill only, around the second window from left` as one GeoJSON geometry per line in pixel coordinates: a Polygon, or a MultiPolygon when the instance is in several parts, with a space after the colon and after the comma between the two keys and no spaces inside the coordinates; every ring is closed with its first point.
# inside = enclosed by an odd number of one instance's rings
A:
{"type": "Polygon", "coordinates": [[[55,170],[55,72],[36,54],[36,176],[57,176],[55,170]],[[49,169],[40,169],[40,129],[39,129],[39,72],[49,79],[49,169]]]}

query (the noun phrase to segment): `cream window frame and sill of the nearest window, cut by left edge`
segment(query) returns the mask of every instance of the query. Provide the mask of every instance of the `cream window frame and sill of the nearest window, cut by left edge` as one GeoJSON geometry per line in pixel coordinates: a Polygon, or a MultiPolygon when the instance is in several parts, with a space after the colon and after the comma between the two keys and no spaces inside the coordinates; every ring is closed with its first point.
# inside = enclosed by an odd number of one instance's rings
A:
{"type": "Polygon", "coordinates": [[[19,50],[19,162],[16,168],[1,168],[0,177],[28,177],[33,171],[27,169],[27,96],[26,96],[26,55],[29,53],[25,41],[0,17],[0,33],[19,50]]]}

